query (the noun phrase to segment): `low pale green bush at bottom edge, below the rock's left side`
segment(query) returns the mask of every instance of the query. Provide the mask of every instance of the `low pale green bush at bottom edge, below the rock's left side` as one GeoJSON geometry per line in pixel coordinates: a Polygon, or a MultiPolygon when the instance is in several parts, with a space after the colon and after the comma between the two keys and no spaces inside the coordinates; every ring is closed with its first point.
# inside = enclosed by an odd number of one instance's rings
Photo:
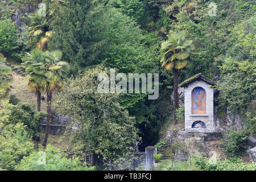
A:
{"type": "Polygon", "coordinates": [[[200,171],[195,162],[163,160],[156,166],[155,171],[200,171]]]}

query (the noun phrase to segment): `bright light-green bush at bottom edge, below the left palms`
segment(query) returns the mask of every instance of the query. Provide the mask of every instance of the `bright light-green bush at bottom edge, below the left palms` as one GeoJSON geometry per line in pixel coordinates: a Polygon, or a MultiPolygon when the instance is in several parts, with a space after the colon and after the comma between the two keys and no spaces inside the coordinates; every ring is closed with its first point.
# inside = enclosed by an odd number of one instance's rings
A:
{"type": "Polygon", "coordinates": [[[39,151],[34,151],[30,156],[23,158],[15,169],[20,171],[94,171],[94,167],[87,167],[78,159],[67,159],[64,153],[47,145],[46,150],[40,146],[39,151]]]}

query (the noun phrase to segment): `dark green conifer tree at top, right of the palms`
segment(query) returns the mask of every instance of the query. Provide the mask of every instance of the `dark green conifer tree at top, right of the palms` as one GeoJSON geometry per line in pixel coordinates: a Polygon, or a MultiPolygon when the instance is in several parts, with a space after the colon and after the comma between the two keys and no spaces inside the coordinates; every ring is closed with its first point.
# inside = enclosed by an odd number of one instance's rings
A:
{"type": "Polygon", "coordinates": [[[101,2],[67,0],[56,10],[55,20],[50,27],[53,36],[49,47],[60,49],[64,53],[63,59],[75,67],[97,64],[97,56],[102,46],[106,45],[106,40],[100,39],[100,32],[105,27],[97,27],[94,23],[103,12],[99,5],[101,2]]]}

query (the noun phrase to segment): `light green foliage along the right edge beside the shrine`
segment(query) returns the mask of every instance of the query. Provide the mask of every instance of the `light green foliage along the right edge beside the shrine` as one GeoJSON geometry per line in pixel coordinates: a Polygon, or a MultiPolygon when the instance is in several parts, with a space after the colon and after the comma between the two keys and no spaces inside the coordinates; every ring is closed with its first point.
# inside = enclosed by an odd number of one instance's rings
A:
{"type": "Polygon", "coordinates": [[[256,16],[234,26],[227,44],[229,46],[222,60],[220,106],[233,110],[246,119],[247,129],[255,135],[255,90],[256,90],[256,16]]]}

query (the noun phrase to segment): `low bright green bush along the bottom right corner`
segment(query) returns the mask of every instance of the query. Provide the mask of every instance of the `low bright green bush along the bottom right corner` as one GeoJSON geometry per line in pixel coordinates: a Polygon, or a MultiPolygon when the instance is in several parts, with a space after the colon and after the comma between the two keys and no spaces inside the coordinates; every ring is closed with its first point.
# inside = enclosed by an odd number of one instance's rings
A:
{"type": "Polygon", "coordinates": [[[190,162],[195,163],[204,171],[255,171],[255,163],[244,163],[242,159],[216,160],[216,163],[210,163],[208,158],[203,156],[192,156],[190,162]]]}

